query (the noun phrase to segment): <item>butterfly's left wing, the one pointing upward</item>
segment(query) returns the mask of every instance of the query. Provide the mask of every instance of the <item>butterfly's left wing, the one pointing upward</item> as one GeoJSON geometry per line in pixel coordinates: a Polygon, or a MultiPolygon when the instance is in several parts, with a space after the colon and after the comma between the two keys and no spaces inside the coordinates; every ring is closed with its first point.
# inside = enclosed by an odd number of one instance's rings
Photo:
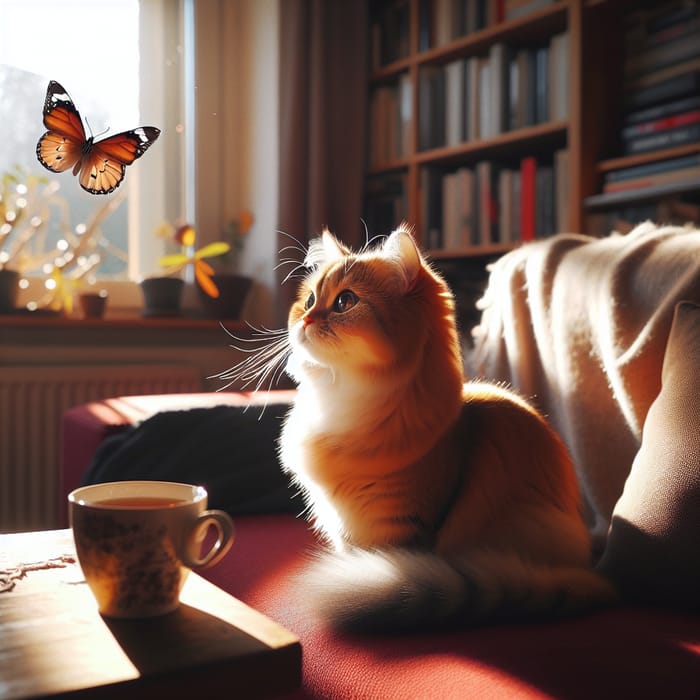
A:
{"type": "Polygon", "coordinates": [[[36,145],[39,162],[54,173],[75,166],[86,145],[85,129],[73,101],[55,80],[46,90],[44,126],[48,131],[36,145]]]}

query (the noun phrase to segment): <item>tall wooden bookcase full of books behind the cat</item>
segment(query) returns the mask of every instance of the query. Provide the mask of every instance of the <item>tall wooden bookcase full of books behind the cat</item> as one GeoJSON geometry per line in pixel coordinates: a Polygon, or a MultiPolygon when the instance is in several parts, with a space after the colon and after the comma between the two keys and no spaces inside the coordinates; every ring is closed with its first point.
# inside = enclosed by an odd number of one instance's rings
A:
{"type": "MultiPolygon", "coordinates": [[[[700,202],[700,138],[642,152],[630,152],[644,144],[626,138],[639,130],[629,102],[653,82],[647,74],[700,61],[697,2],[667,0],[666,14],[661,5],[370,1],[370,230],[405,218],[431,257],[457,270],[460,260],[497,257],[557,231],[604,235],[640,203],[642,216],[669,198],[700,202]],[[659,58],[666,39],[675,53],[659,58]],[[613,184],[631,168],[671,169],[674,159],[676,181],[613,184]],[[527,206],[523,189],[536,193],[527,206]]],[[[694,211],[683,209],[690,219],[694,211]]]]}

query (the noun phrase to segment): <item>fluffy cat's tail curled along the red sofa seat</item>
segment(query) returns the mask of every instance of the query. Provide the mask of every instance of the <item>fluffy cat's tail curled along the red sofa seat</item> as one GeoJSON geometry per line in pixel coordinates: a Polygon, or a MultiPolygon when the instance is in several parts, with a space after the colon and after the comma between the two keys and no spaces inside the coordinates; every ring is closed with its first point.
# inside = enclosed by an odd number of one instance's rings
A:
{"type": "Polygon", "coordinates": [[[313,612],[353,632],[410,632],[576,615],[617,599],[591,569],[545,566],[478,551],[446,560],[427,551],[323,555],[304,575],[313,612]]]}

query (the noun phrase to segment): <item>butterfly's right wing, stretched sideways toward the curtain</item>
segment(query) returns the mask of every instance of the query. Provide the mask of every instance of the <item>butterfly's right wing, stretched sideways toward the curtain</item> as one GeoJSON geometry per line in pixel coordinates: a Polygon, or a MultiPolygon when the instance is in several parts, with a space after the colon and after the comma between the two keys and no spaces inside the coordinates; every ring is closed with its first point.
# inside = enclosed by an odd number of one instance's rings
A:
{"type": "Polygon", "coordinates": [[[160,135],[154,126],[109,136],[90,144],[80,165],[80,186],[91,194],[113,192],[124,179],[127,165],[140,158],[160,135]]]}

